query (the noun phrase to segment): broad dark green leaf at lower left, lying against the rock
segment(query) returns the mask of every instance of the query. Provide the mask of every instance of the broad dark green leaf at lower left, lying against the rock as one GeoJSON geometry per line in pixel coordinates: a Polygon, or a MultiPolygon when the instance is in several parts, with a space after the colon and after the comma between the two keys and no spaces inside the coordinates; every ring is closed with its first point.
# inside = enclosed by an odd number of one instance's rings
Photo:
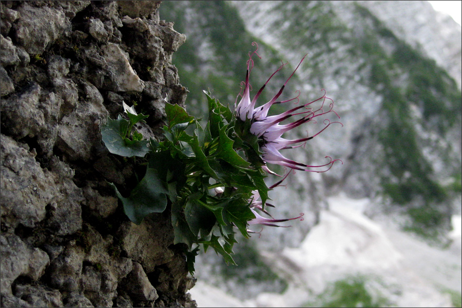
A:
{"type": "Polygon", "coordinates": [[[136,224],[140,224],[148,214],[162,213],[167,206],[168,191],[162,185],[154,169],[147,168],[145,176],[131,191],[128,198],[124,198],[114,184],[109,184],[122,200],[125,214],[136,224]]]}

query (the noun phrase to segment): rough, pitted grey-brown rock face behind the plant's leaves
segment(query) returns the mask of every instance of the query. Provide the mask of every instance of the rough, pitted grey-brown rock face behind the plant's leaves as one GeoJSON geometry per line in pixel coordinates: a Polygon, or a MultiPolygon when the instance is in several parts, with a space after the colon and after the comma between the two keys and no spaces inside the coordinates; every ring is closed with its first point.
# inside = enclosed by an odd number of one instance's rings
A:
{"type": "Polygon", "coordinates": [[[123,101],[157,138],[184,105],[160,5],[0,3],[2,307],[196,306],[169,212],[128,220],[108,182],[127,194],[142,170],[101,141],[123,101]]]}

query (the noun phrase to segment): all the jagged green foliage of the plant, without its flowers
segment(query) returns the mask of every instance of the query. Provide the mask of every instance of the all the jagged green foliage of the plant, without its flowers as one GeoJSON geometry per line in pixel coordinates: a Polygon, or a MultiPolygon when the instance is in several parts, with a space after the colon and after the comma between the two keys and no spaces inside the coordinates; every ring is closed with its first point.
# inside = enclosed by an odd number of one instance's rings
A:
{"type": "MultiPolygon", "coordinates": [[[[131,140],[144,142],[149,151],[144,177],[128,198],[110,183],[123,203],[125,214],[137,224],[151,213],[163,212],[171,203],[174,243],[187,245],[191,273],[198,250],[198,246],[193,248],[193,245],[202,244],[204,250],[212,247],[227,263],[235,264],[231,257],[236,242],[234,229],[245,238],[249,237],[247,224],[255,218],[249,200],[258,190],[264,204],[269,190],[261,163],[255,164],[246,156],[250,150],[259,153],[258,141],[239,136],[240,131],[235,130],[239,121],[234,113],[205,94],[209,106],[205,128],[182,107],[167,103],[167,125],[163,127],[165,139],[161,142],[131,140]],[[193,135],[187,133],[189,126],[196,128],[193,135]],[[243,139],[247,141],[243,142],[243,139]],[[217,187],[224,188],[224,191],[215,193],[217,187]]],[[[118,120],[108,119],[101,133],[108,149],[113,148],[114,142],[110,140],[118,140],[115,153],[131,156],[132,145],[125,141],[125,136],[137,138],[141,135],[136,131],[131,133],[131,129],[146,116],[137,115],[133,107],[124,108],[130,120],[121,116],[118,120]]]]}

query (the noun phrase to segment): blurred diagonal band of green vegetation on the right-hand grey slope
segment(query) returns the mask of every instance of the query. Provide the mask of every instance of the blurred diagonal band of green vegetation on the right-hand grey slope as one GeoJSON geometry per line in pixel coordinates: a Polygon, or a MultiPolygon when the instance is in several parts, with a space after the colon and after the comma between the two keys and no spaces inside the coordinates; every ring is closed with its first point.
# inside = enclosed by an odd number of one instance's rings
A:
{"type": "Polygon", "coordinates": [[[383,178],[384,192],[398,204],[423,197],[422,208],[408,211],[414,221],[413,228],[437,227],[444,221],[446,213],[435,208],[435,203],[447,199],[447,190],[432,179],[432,167],[417,143],[409,102],[422,110],[422,126],[444,133],[460,121],[461,93],[455,81],[434,60],[425,58],[395,37],[366,8],[360,5],[356,8],[362,18],[372,20],[374,25],[369,33],[359,38],[358,44],[372,64],[370,87],[383,95],[382,108],[388,114],[388,122],[380,132],[379,140],[386,149],[389,169],[398,179],[398,182],[392,182],[383,178]],[[391,54],[380,47],[380,39],[394,47],[391,54]],[[403,74],[409,76],[403,83],[398,83],[396,80],[400,80],[403,74]]]}

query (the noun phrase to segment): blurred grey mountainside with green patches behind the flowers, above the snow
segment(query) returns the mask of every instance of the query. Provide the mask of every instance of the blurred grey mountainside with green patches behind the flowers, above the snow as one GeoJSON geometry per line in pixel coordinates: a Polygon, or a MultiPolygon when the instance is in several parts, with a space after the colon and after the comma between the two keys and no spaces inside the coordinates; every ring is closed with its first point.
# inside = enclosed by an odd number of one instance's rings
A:
{"type": "MultiPolygon", "coordinates": [[[[280,60],[292,66],[275,75],[261,104],[307,53],[285,97],[299,89],[302,101],[312,100],[326,89],[344,127],[332,126],[305,151],[287,155],[313,164],[329,155],[344,165],[322,178],[298,172],[278,197],[303,195],[289,200],[281,214],[287,208],[316,212],[325,194],[344,190],[354,197],[385,197],[383,202],[410,215],[416,224],[410,228],[448,227],[461,173],[461,47],[455,22],[441,19],[422,1],[179,1],[163,3],[161,17],[174,20],[187,36],[173,60],[190,91],[188,110],[196,114],[206,114],[202,90],[234,104],[253,41],[262,56],[251,74],[254,93],[280,60]],[[451,67],[455,70],[446,69],[451,67]],[[315,183],[321,185],[314,188],[315,183]]],[[[310,134],[319,129],[322,125],[310,134]]],[[[289,242],[299,242],[301,235],[289,242]]]]}

